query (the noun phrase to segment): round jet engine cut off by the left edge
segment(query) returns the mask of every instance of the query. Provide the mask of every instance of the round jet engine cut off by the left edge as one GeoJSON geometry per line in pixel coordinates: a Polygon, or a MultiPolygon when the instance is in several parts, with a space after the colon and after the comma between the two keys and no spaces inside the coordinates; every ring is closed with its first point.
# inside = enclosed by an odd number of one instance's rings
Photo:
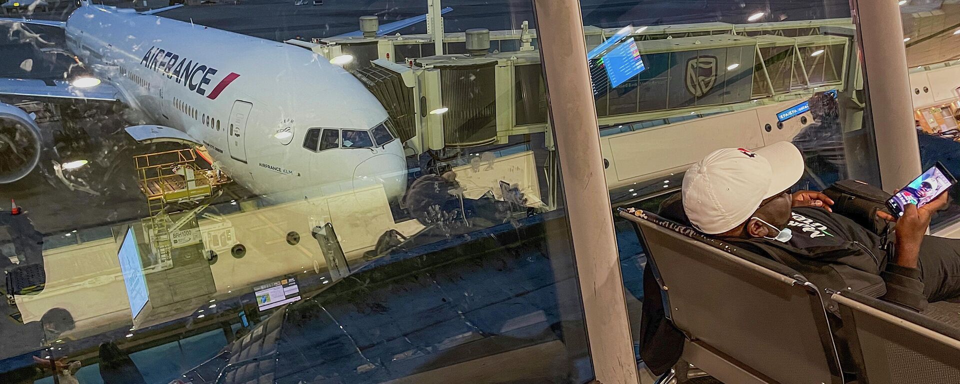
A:
{"type": "Polygon", "coordinates": [[[0,184],[23,179],[40,160],[40,127],[34,117],[0,103],[0,184]]]}

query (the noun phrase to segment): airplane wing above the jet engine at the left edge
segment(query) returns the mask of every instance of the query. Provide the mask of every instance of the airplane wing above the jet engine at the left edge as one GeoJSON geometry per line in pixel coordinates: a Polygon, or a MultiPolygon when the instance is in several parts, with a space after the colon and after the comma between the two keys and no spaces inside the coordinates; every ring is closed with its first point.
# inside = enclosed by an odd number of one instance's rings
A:
{"type": "Polygon", "coordinates": [[[111,84],[78,88],[62,80],[0,79],[0,95],[120,101],[120,91],[111,84]]]}

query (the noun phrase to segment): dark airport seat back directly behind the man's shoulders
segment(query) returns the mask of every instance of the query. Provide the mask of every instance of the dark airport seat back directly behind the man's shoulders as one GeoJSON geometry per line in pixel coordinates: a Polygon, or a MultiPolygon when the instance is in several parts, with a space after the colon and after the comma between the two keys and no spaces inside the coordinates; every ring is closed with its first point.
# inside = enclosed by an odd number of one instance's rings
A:
{"type": "Polygon", "coordinates": [[[822,298],[803,276],[650,212],[620,215],[686,336],[683,360],[725,383],[843,383],[822,298]]]}

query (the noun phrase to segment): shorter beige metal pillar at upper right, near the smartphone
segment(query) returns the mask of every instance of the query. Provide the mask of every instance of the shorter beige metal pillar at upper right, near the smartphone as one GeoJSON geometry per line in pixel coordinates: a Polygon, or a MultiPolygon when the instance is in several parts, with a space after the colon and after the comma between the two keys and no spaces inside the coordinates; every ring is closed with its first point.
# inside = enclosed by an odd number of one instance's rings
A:
{"type": "Polygon", "coordinates": [[[860,37],[867,113],[874,122],[880,180],[883,189],[894,191],[922,172],[900,6],[896,1],[851,3],[860,37]]]}

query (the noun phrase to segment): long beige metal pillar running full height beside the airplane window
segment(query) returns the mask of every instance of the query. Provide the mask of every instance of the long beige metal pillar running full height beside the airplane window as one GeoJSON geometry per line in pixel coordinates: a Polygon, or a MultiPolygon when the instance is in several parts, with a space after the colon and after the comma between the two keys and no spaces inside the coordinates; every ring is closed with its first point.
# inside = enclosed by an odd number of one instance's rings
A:
{"type": "Polygon", "coordinates": [[[601,383],[636,384],[580,2],[534,0],[534,8],[593,369],[601,383]]]}

